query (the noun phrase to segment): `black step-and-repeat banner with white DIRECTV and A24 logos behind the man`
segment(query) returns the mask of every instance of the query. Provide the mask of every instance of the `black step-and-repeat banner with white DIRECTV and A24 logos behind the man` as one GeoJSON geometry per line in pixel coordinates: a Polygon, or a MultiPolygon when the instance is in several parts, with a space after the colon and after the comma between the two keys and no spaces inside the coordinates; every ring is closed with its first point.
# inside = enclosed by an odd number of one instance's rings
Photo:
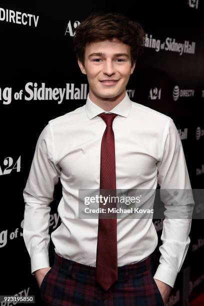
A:
{"type": "MultiPolygon", "coordinates": [[[[130,76],[127,93],[132,101],[173,119],[191,187],[204,187],[203,1],[133,2],[0,2],[0,295],[34,295],[35,304],[41,304],[22,237],[22,191],[36,141],[48,120],[86,102],[88,82],[78,67],[72,39],[76,26],[92,11],[123,13],[146,31],[144,53],[130,76]]],[[[59,182],[50,204],[50,233],[60,224],[60,198],[59,182]]],[[[203,211],[204,202],[196,209],[203,211]]],[[[162,219],[153,223],[159,238],[154,251],[158,263],[162,219]]],[[[187,305],[204,291],[203,223],[202,218],[192,220],[190,246],[168,306],[187,305]]],[[[51,240],[49,255],[52,265],[51,240]]]]}

